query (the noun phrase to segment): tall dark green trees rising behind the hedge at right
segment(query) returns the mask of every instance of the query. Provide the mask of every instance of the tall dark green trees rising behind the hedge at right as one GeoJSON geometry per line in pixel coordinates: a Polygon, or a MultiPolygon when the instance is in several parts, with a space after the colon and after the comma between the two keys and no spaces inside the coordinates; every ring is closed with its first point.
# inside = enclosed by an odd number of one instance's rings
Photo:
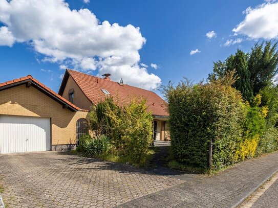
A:
{"type": "Polygon", "coordinates": [[[213,63],[213,72],[208,80],[221,79],[227,71],[236,70],[238,80],[234,87],[241,91],[243,98],[252,101],[261,89],[270,86],[278,73],[277,43],[266,41],[256,43],[250,53],[238,50],[224,62],[213,63]]]}

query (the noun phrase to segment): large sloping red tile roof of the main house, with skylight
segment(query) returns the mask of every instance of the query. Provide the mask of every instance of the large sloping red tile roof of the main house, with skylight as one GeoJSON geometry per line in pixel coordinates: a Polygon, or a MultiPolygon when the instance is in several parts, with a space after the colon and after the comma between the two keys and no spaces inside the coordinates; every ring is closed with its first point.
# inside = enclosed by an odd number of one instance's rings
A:
{"type": "MultiPolygon", "coordinates": [[[[103,101],[107,95],[101,89],[109,91],[119,103],[129,102],[134,97],[146,99],[148,110],[153,115],[167,116],[166,102],[153,91],[141,89],[127,84],[119,84],[111,80],[102,79],[88,74],[67,70],[84,95],[94,104],[103,101]]],[[[67,73],[66,72],[66,73],[67,73]]]]}

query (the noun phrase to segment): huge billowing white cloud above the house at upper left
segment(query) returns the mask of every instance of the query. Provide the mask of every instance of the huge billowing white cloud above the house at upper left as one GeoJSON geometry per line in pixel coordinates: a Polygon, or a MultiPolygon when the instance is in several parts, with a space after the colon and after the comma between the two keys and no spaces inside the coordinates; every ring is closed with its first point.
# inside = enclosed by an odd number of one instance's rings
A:
{"type": "Polygon", "coordinates": [[[100,22],[88,9],[71,10],[64,0],[0,0],[0,45],[28,43],[43,61],[60,68],[98,70],[142,88],[156,88],[161,79],[140,65],[146,39],[140,28],[100,22]],[[131,76],[136,74],[136,76],[131,76]]]}

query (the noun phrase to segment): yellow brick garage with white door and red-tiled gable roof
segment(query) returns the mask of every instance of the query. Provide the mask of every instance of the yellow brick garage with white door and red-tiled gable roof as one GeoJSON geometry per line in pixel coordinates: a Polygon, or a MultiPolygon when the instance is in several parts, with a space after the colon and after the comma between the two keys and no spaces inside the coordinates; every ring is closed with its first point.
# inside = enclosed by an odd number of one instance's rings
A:
{"type": "Polygon", "coordinates": [[[88,113],[30,75],[0,83],[0,154],[73,149],[88,113]]]}

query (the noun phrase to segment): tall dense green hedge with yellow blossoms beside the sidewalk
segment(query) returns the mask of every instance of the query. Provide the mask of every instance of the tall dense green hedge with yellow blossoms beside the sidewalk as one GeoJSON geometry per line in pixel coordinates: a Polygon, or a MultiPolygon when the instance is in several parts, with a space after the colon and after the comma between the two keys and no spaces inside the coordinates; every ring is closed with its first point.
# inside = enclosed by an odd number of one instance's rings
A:
{"type": "Polygon", "coordinates": [[[208,169],[210,141],[212,170],[278,149],[277,89],[262,90],[250,106],[231,87],[233,82],[231,72],[208,83],[194,85],[186,80],[162,87],[168,101],[172,152],[178,163],[208,169]]]}

